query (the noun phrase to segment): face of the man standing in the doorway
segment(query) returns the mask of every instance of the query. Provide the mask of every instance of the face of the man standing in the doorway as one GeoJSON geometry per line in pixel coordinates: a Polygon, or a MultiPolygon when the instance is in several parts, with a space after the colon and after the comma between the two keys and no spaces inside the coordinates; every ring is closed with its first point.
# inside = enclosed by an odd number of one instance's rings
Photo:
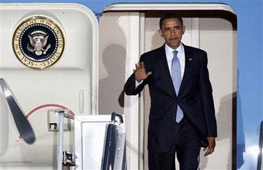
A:
{"type": "Polygon", "coordinates": [[[159,33],[168,46],[176,49],[181,44],[185,26],[177,18],[164,19],[159,33]]]}

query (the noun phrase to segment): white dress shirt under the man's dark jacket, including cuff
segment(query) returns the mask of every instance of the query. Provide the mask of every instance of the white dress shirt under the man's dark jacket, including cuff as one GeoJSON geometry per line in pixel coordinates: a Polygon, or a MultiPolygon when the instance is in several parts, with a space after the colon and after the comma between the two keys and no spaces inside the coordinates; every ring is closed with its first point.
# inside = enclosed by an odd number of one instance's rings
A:
{"type": "MultiPolygon", "coordinates": [[[[179,59],[180,62],[180,67],[181,67],[181,80],[183,79],[183,73],[185,71],[185,50],[183,49],[183,44],[181,43],[177,49],[172,49],[170,46],[168,46],[167,44],[165,44],[165,56],[167,59],[167,64],[169,67],[169,71],[170,71],[170,75],[172,76],[171,73],[171,68],[172,68],[172,58],[174,58],[174,54],[172,53],[173,51],[178,51],[177,53],[177,57],[179,59]]],[[[143,83],[143,80],[138,83],[137,80],[135,80],[135,88],[138,87],[138,85],[140,85],[141,83],[143,83]]]]}

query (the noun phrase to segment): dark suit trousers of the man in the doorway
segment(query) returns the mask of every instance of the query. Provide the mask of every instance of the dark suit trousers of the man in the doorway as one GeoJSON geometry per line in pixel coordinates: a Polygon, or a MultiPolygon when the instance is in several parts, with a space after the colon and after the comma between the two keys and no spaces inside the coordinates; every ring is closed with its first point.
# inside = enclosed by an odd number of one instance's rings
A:
{"type": "Polygon", "coordinates": [[[175,153],[180,170],[197,170],[201,148],[197,132],[186,118],[183,118],[179,124],[176,122],[174,124],[176,124],[175,137],[170,151],[156,153],[148,150],[149,170],[174,170],[175,153]]]}

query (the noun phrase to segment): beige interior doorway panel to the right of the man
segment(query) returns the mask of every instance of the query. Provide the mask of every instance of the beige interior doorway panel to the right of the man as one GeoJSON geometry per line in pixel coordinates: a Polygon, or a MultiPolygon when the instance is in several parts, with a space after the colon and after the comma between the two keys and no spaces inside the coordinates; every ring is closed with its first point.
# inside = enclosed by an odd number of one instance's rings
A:
{"type": "Polygon", "coordinates": [[[235,162],[233,112],[237,99],[237,31],[226,19],[200,18],[199,34],[200,47],[208,53],[218,135],[215,152],[207,157],[201,152],[201,169],[231,169],[235,162]]]}

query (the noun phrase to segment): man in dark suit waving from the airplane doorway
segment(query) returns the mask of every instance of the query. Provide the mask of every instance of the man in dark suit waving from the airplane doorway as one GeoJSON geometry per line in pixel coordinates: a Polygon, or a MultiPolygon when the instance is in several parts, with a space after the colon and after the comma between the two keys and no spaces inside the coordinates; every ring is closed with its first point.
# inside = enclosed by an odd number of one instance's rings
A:
{"type": "Polygon", "coordinates": [[[215,149],[217,124],[206,51],[181,43],[182,18],[169,12],[160,19],[165,44],[140,56],[125,93],[136,95],[149,85],[149,169],[197,169],[201,146],[215,149]]]}

